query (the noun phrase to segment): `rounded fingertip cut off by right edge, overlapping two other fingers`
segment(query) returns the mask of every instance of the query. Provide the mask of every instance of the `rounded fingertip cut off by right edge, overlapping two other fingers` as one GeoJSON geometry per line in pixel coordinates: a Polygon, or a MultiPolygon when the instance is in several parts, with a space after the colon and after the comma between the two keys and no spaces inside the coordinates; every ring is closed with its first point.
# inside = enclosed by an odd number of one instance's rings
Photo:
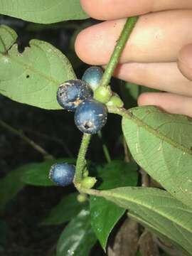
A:
{"type": "Polygon", "coordinates": [[[181,73],[192,80],[192,43],[184,46],[179,51],[177,64],[181,73]]]}

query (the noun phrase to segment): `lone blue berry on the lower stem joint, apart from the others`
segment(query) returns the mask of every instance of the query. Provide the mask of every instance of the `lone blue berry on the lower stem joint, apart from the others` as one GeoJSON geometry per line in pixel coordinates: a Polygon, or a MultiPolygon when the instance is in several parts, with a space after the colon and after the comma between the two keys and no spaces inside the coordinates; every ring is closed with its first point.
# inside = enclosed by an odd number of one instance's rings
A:
{"type": "Polygon", "coordinates": [[[72,164],[53,164],[50,167],[49,178],[58,186],[68,186],[73,182],[75,166],[72,164]]]}

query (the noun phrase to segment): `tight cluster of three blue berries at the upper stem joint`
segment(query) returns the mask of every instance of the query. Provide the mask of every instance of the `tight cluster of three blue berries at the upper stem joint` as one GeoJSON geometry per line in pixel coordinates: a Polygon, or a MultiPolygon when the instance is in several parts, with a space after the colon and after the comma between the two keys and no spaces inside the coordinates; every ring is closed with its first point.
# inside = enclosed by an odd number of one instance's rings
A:
{"type": "Polygon", "coordinates": [[[75,124],[83,133],[96,134],[107,122],[105,102],[99,97],[93,99],[93,91],[97,92],[101,78],[102,69],[91,67],[85,71],[82,80],[68,80],[58,88],[59,105],[75,112],[75,124]]]}

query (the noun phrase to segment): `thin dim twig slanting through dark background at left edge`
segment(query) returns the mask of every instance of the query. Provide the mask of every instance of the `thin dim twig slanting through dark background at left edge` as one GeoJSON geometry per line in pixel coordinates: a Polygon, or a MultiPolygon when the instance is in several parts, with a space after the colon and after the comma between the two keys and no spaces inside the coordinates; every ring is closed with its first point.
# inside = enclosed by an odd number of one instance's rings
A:
{"type": "Polygon", "coordinates": [[[33,149],[36,149],[36,151],[38,151],[43,155],[44,159],[54,159],[54,157],[51,154],[49,154],[45,149],[43,149],[41,146],[36,144],[36,142],[33,142],[33,140],[28,139],[28,137],[26,137],[26,135],[23,134],[23,132],[18,131],[17,129],[15,129],[14,127],[11,127],[9,124],[6,124],[6,122],[2,120],[0,120],[0,125],[1,127],[4,127],[4,129],[7,129],[9,132],[23,139],[23,141],[28,143],[30,146],[32,146],[33,149]]]}

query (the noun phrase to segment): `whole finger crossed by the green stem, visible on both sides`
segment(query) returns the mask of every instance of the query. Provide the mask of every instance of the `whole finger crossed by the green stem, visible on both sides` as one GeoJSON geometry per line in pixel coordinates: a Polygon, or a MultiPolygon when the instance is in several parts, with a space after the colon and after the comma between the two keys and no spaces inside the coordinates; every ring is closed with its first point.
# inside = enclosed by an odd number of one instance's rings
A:
{"type": "MultiPolygon", "coordinates": [[[[75,41],[79,58],[91,65],[105,65],[124,26],[125,19],[105,21],[86,28],[75,41]]],[[[162,11],[139,18],[122,53],[121,63],[171,62],[192,42],[191,11],[162,11]]]]}

